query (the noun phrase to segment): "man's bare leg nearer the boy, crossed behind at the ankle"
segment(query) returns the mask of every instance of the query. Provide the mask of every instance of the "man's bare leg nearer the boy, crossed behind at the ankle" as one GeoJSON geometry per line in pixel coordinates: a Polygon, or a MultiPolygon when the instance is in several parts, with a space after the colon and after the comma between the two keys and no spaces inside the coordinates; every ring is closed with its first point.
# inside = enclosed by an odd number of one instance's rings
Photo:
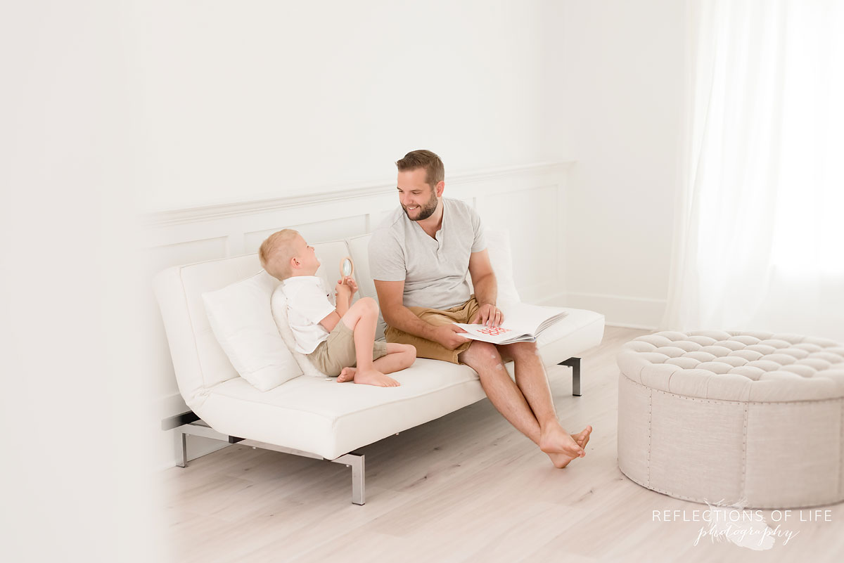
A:
{"type": "MultiPolygon", "coordinates": [[[[542,448],[540,444],[543,438],[542,426],[539,424],[530,405],[527,404],[522,390],[519,389],[516,383],[513,383],[513,380],[504,368],[504,363],[501,361],[500,354],[495,346],[488,342],[474,341],[468,350],[460,354],[459,359],[478,372],[480,383],[484,387],[484,393],[486,393],[490,402],[501,415],[511,425],[515,426],[519,432],[522,432],[522,434],[542,448]]],[[[556,421],[556,415],[554,416],[556,421]]],[[[562,430],[559,422],[557,422],[557,426],[562,430]]],[[[588,430],[589,432],[592,431],[591,428],[588,430]]],[[[556,443],[554,446],[556,449],[553,451],[543,449],[545,453],[549,454],[551,461],[555,465],[564,462],[568,464],[571,458],[582,455],[582,446],[576,442],[575,438],[568,435],[566,437],[568,438],[567,442],[565,440],[553,442],[556,443]],[[564,448],[564,446],[566,447],[564,448]],[[563,459],[561,456],[565,456],[566,459],[563,459]]],[[[587,438],[588,432],[586,433],[587,438]]],[[[586,445],[585,442],[583,445],[586,445]]],[[[546,448],[548,447],[548,444],[546,444],[546,448]]]]}

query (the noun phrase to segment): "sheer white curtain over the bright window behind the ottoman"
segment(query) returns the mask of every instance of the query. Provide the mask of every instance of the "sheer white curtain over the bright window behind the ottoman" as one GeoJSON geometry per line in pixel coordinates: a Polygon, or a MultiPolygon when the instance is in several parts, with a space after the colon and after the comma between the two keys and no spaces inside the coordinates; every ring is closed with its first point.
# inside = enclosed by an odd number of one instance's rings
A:
{"type": "Polygon", "coordinates": [[[844,1],[691,5],[663,329],[844,341],[844,1]]]}

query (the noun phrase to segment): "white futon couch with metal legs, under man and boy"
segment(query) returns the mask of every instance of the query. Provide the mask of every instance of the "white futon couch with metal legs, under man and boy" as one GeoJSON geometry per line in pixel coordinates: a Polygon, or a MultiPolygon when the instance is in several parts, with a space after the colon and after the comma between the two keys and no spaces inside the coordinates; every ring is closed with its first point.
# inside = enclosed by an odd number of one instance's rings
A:
{"type": "MultiPolygon", "coordinates": [[[[314,245],[322,262],[317,276],[327,287],[334,286],[339,261],[348,255],[360,287],[355,299],[377,299],[367,256],[370,236],[314,245]]],[[[506,314],[507,303],[518,299],[509,240],[506,233],[488,231],[487,242],[499,282],[498,304],[506,314]]],[[[328,380],[292,351],[284,351],[295,358],[285,368],[289,380],[272,389],[257,389],[240,377],[220,346],[203,299],[203,293],[255,276],[261,281],[258,287],[265,288],[260,291],[266,292],[270,314],[271,295],[279,281],[262,271],[257,254],[175,266],[154,278],[179,391],[191,409],[162,424],[181,432],[181,467],[187,464],[188,434],[324,458],[352,467],[352,500],[363,504],[364,455],[355,450],[485,398],[478,374],[468,366],[419,358],[412,367],[392,374],[401,386],[376,388],[328,380]]],[[[601,342],[604,319],[592,311],[567,310],[565,319],[545,330],[537,345],[546,366],[572,367],[573,394],[580,395],[579,357],[601,342]]],[[[378,337],[383,330],[380,322],[378,337]]],[[[512,375],[512,362],[507,369],[512,375]]]]}

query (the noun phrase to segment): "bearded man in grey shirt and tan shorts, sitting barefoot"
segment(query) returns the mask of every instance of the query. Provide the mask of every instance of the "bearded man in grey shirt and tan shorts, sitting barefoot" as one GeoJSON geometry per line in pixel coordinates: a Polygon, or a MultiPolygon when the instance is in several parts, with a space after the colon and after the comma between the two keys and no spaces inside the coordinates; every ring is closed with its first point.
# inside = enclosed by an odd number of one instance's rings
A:
{"type": "Polygon", "coordinates": [[[495,307],[495,274],[478,213],[463,201],[442,197],[445,168],[435,153],[412,151],[396,166],[401,209],[373,233],[369,247],[381,313],[389,325],[387,342],[412,344],[418,357],[472,367],[495,408],[556,467],[583,457],[592,426],[571,435],[560,426],[536,344],[469,340],[454,324],[498,326],[504,319],[495,307]],[[516,364],[515,383],[504,368],[510,359],[516,364]]]}

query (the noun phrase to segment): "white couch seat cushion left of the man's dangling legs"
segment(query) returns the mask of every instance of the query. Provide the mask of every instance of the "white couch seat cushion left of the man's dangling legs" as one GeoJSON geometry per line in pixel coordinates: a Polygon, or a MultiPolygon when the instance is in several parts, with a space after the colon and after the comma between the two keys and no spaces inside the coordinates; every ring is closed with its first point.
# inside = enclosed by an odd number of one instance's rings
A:
{"type": "Polygon", "coordinates": [[[233,379],[211,389],[197,414],[230,436],[333,459],[485,396],[478,374],[468,366],[418,359],[391,377],[401,385],[295,378],[266,393],[233,379]]]}

